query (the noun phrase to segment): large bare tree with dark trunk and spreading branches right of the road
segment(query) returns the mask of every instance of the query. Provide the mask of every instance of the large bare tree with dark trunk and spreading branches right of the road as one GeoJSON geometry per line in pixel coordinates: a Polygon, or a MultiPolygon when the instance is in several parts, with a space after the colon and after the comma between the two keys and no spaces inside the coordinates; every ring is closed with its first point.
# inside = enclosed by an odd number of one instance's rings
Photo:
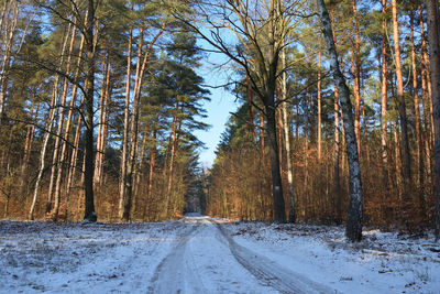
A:
{"type": "Polygon", "coordinates": [[[213,51],[227,55],[245,72],[253,92],[264,106],[264,109],[261,109],[254,105],[266,119],[273,217],[276,222],[286,221],[276,138],[275,113],[282,102],[275,97],[276,79],[289,66],[283,67],[280,53],[289,45],[285,42],[287,36],[295,35],[295,25],[299,23],[297,20],[301,19],[305,8],[305,1],[270,0],[260,4],[256,0],[223,0],[216,3],[196,3],[194,10],[197,11],[197,15],[191,20],[177,14],[177,18],[208,42],[213,51]],[[231,42],[231,32],[235,42],[231,42]]]}

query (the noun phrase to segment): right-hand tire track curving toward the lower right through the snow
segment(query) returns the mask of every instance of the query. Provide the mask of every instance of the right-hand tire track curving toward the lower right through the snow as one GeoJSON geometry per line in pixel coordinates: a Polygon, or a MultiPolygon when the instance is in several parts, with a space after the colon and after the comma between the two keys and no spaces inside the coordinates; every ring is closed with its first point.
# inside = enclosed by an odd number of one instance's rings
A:
{"type": "Polygon", "coordinates": [[[274,261],[238,244],[220,224],[215,220],[211,221],[217,225],[221,235],[228,240],[231,253],[237,261],[255,277],[264,280],[270,286],[280,293],[334,293],[333,290],[316,283],[301,274],[284,269],[274,261]]]}

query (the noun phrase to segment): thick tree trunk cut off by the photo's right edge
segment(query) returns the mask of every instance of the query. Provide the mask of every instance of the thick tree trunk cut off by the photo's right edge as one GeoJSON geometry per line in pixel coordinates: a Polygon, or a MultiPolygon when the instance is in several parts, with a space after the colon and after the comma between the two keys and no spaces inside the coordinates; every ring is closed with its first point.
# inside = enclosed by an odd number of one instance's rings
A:
{"type": "Polygon", "coordinates": [[[428,40],[430,50],[431,80],[432,80],[432,109],[436,161],[436,240],[440,238],[440,33],[438,1],[426,0],[428,14],[428,40]]]}

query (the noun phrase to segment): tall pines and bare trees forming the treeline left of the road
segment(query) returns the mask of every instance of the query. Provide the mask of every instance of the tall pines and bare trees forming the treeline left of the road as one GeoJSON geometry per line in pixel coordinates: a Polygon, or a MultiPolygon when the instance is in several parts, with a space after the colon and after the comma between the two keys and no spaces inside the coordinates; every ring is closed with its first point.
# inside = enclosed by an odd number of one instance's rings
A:
{"type": "Polygon", "coordinates": [[[172,15],[185,1],[0,6],[1,217],[182,216],[209,94],[196,36],[172,15]]]}

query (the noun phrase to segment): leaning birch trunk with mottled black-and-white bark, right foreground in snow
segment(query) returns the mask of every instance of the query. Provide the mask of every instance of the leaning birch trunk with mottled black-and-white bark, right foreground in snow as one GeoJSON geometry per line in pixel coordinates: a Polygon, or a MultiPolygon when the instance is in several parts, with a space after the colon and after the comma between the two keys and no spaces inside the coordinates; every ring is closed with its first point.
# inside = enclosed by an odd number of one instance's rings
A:
{"type": "Polygon", "coordinates": [[[350,241],[360,241],[362,239],[362,181],[359,165],[359,153],[356,135],[354,132],[353,108],[350,101],[350,90],[346,87],[345,78],[340,70],[338,54],[334,47],[333,33],[323,0],[317,0],[319,17],[322,25],[322,33],[326,39],[327,50],[330,55],[330,70],[333,76],[340,95],[341,107],[344,117],[346,154],[349,159],[350,171],[350,207],[349,219],[345,228],[345,236],[350,241]]]}

